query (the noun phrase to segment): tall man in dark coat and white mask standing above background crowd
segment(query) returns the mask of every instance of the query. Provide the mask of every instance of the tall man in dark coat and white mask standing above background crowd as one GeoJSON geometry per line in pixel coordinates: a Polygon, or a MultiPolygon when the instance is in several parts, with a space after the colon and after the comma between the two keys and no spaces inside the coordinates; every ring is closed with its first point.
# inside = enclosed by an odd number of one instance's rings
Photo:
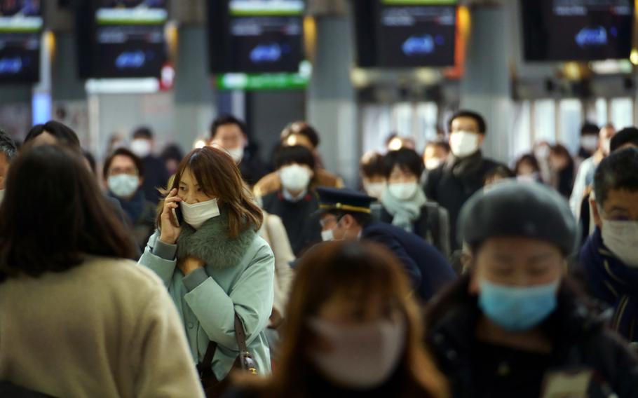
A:
{"type": "Polygon", "coordinates": [[[498,163],[481,153],[487,132],[482,116],[473,111],[459,111],[449,119],[448,129],[452,153],[445,163],[430,171],[425,191],[428,200],[434,200],[449,214],[450,248],[454,251],[459,249],[455,237],[461,207],[484,186],[486,175],[498,163]]]}

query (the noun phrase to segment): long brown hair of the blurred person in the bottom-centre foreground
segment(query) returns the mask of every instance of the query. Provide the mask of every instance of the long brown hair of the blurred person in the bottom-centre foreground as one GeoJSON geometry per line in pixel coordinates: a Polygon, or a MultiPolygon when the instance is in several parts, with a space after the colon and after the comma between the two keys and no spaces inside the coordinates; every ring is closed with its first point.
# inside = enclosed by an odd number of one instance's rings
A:
{"type": "Polygon", "coordinates": [[[315,366],[306,352],[316,336],[308,319],[335,294],[362,291],[398,303],[407,320],[405,352],[395,374],[395,397],[449,397],[447,382],[423,345],[421,312],[410,294],[409,282],[388,249],[371,242],[327,242],[301,258],[283,325],[280,358],[273,376],[254,380],[236,376],[259,397],[308,397],[308,380],[315,366]]]}

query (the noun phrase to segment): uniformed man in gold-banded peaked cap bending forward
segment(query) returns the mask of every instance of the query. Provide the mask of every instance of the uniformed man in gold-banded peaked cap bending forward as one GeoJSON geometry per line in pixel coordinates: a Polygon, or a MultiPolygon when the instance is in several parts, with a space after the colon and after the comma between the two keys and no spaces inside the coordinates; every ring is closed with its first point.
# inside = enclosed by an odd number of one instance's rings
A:
{"type": "Polygon", "coordinates": [[[442,254],[421,237],[381,221],[372,221],[375,200],[348,189],[317,188],[323,240],[362,239],[390,249],[405,268],[414,291],[427,302],[456,274],[442,254]]]}

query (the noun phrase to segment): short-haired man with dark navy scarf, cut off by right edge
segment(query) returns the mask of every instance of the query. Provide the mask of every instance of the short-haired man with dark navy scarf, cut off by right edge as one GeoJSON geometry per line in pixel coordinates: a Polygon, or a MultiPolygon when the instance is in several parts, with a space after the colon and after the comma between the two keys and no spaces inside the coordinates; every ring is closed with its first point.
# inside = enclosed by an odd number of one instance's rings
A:
{"type": "Polygon", "coordinates": [[[581,250],[581,273],[590,294],[613,309],[611,327],[638,344],[638,149],[602,160],[594,193],[596,231],[581,250]]]}

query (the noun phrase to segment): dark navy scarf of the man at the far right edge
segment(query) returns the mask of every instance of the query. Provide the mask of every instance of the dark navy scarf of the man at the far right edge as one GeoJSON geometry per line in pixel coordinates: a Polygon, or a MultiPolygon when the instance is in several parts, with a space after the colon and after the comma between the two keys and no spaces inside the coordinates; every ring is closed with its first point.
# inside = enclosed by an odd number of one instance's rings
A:
{"type": "Polygon", "coordinates": [[[613,298],[612,329],[638,341],[638,270],[625,266],[605,247],[599,228],[583,246],[581,264],[592,291],[613,298]]]}

